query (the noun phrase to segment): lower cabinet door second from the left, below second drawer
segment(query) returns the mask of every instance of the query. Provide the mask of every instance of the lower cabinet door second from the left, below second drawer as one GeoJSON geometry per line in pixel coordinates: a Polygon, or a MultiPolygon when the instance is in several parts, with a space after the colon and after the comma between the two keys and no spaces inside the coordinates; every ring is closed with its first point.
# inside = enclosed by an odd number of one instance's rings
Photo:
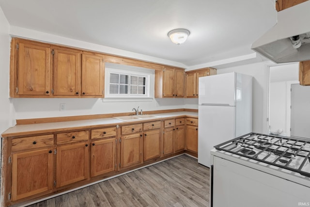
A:
{"type": "Polygon", "coordinates": [[[62,187],[89,177],[87,143],[57,147],[56,187],[62,187]]]}

